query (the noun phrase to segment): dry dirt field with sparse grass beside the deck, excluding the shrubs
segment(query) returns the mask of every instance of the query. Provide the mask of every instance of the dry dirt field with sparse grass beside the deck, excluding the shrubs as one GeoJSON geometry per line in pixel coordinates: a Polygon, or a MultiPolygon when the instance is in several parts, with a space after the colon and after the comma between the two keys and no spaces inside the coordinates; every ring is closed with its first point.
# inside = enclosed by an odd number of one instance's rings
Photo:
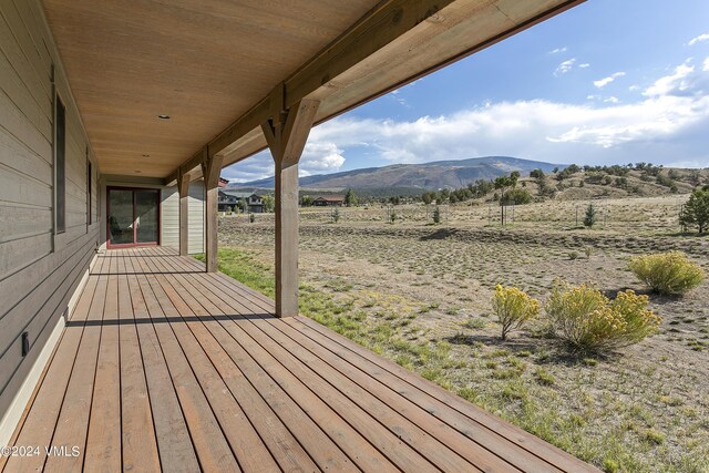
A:
{"type": "MultiPolygon", "coordinates": [[[[390,321],[402,343],[374,345],[382,354],[606,471],[707,472],[709,281],[682,298],[650,295],[661,331],[606,357],[569,356],[535,326],[502,342],[490,313],[496,284],[542,300],[555,278],[645,292],[631,255],[680,249],[709,273],[709,238],[678,234],[681,202],[595,202],[594,229],[577,227],[579,202],[518,206],[505,227],[487,206],[446,207],[435,226],[421,205],[394,207],[394,224],[383,207],[340,209],[338,223],[331,209],[306,209],[300,278],[352,313],[390,321]],[[429,363],[405,343],[448,361],[429,363]]],[[[224,217],[219,244],[273,266],[273,232],[269,215],[224,217]]]]}

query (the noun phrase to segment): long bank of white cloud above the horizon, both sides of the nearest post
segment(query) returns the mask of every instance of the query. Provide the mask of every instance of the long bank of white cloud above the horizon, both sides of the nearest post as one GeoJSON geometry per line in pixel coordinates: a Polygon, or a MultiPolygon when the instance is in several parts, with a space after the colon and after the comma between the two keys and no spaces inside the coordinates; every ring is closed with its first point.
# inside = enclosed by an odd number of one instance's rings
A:
{"type": "MultiPolygon", "coordinates": [[[[682,160],[709,165],[709,73],[678,65],[635,103],[588,95],[585,104],[546,100],[485,103],[412,121],[343,115],[317,126],[301,160],[302,174],[341,168],[345,156],[368,155],[381,165],[484,155],[552,163],[613,164],[682,160]]],[[[273,175],[267,153],[225,169],[227,178],[273,175]]]]}

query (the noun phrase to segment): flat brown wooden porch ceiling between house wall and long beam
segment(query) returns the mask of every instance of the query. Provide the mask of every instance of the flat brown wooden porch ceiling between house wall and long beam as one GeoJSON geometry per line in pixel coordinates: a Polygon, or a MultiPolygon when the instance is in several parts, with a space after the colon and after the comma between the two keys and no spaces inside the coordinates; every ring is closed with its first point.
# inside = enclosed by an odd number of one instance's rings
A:
{"type": "Polygon", "coordinates": [[[164,177],[377,0],[43,3],[102,173],[164,177]]]}

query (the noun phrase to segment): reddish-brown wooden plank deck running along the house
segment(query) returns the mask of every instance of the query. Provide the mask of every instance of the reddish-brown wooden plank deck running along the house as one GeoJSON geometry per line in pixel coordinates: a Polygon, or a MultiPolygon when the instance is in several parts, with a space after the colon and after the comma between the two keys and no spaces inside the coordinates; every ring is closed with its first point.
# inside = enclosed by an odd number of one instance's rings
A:
{"type": "Polygon", "coordinates": [[[592,471],[203,268],[100,255],[0,470],[592,471]]]}

